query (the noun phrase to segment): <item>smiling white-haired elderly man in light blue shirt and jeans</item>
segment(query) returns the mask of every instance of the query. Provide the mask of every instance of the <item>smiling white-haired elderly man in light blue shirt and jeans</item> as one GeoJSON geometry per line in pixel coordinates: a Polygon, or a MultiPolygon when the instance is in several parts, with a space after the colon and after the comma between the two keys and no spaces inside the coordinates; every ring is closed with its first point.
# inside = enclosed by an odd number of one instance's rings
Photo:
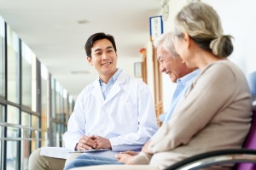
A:
{"type": "MultiPolygon", "coordinates": [[[[174,111],[178,101],[183,98],[191,82],[199,74],[199,70],[189,68],[183,60],[176,53],[172,43],[172,32],[163,34],[160,38],[154,41],[154,47],[157,48],[157,59],[160,63],[160,71],[165,72],[171,78],[172,82],[177,82],[177,88],[172,96],[172,105],[169,111],[166,112],[165,122],[167,122],[174,111]]],[[[73,167],[84,167],[91,165],[104,165],[104,164],[123,164],[127,163],[138,152],[125,151],[120,152],[116,156],[117,159],[109,159],[101,156],[78,156],[75,160],[71,161],[64,168],[65,170],[73,167]]]]}

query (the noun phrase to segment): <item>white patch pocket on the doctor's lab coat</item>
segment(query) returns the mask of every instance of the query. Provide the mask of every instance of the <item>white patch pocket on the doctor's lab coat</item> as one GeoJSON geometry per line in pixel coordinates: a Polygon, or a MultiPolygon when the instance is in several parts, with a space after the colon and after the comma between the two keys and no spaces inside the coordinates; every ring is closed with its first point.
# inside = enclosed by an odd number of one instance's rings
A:
{"type": "Polygon", "coordinates": [[[137,123],[137,104],[119,102],[118,119],[121,124],[133,125],[137,123]]]}

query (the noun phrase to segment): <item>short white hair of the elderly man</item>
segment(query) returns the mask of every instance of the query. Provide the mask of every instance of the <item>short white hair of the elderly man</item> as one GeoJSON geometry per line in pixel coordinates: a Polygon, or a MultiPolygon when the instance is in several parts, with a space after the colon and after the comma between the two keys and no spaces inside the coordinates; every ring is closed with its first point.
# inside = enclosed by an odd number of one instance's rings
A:
{"type": "Polygon", "coordinates": [[[179,54],[177,54],[174,47],[172,31],[168,31],[154,40],[155,48],[157,48],[160,44],[163,44],[163,48],[166,50],[166,52],[172,55],[173,59],[177,59],[177,57],[179,57],[179,54]]]}

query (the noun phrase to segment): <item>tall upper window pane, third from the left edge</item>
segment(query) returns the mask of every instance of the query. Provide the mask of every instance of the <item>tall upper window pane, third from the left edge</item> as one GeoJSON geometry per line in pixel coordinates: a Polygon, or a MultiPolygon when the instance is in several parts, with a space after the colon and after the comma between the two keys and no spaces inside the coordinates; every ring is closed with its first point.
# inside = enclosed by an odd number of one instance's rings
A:
{"type": "Polygon", "coordinates": [[[22,105],[32,108],[32,50],[21,43],[22,56],[22,105]]]}

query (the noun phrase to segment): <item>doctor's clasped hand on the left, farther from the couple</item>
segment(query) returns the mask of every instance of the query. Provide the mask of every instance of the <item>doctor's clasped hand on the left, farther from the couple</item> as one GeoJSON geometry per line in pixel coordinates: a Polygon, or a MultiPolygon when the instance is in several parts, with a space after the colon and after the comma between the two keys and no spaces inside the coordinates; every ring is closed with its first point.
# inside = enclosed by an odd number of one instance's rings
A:
{"type": "Polygon", "coordinates": [[[79,143],[76,145],[76,150],[91,150],[96,148],[96,137],[94,135],[88,137],[83,136],[79,139],[79,143]]]}

